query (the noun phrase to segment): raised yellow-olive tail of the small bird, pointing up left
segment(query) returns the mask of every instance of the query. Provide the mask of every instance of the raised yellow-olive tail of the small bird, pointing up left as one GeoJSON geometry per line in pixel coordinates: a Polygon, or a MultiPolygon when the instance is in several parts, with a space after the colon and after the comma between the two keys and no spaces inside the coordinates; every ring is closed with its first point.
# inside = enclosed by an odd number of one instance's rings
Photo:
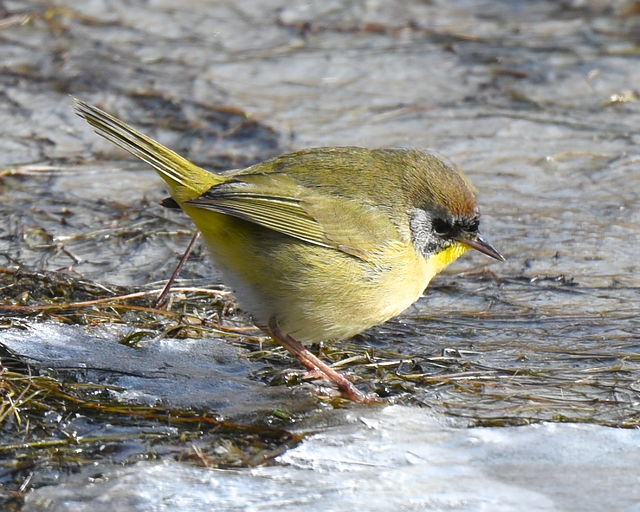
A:
{"type": "Polygon", "coordinates": [[[193,199],[222,181],[114,116],[82,100],[74,100],[76,113],[93,126],[98,135],[153,167],[179,202],[193,199]]]}

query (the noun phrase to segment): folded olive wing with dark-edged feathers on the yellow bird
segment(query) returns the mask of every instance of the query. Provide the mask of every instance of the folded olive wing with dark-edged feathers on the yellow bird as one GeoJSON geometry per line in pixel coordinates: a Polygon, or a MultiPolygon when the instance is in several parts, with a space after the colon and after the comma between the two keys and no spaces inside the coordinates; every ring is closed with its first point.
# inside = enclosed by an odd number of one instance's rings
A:
{"type": "Polygon", "coordinates": [[[242,174],[186,204],[231,215],[305,242],[371,260],[400,240],[374,206],[323,194],[278,173],[242,174]]]}

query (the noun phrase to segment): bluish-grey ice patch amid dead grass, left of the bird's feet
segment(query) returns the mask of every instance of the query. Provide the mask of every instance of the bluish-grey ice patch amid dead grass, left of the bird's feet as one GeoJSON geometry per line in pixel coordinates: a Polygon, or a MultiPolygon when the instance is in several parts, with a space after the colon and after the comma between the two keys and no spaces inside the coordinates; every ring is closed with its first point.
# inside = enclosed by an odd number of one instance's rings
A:
{"type": "Polygon", "coordinates": [[[136,348],[117,342],[132,332],[123,325],[51,322],[0,331],[0,345],[37,366],[71,372],[79,381],[121,387],[112,393],[122,402],[197,407],[229,417],[290,399],[286,388],[252,380],[251,372],[262,365],[223,339],[154,338],[136,348]]]}

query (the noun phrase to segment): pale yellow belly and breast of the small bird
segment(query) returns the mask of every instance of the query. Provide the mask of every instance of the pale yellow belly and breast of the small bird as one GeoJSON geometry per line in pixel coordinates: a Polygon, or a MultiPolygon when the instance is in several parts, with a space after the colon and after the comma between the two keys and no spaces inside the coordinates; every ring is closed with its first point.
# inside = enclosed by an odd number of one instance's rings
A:
{"type": "Polygon", "coordinates": [[[344,339],[413,304],[432,275],[412,245],[373,264],[236,218],[199,226],[225,284],[257,325],[273,319],[301,342],[344,339]]]}

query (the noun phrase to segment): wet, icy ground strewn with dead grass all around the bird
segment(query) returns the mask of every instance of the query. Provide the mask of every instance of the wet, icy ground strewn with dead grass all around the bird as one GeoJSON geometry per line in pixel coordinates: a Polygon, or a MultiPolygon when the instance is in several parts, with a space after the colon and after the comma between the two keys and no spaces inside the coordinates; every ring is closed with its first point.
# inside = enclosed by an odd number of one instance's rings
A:
{"type": "Polygon", "coordinates": [[[2,313],[5,508],[634,509],[635,2],[76,4],[0,3],[2,302],[47,306],[2,313]],[[153,308],[191,226],[70,95],[213,170],[432,148],[477,185],[507,262],[465,256],[322,348],[402,406],[318,395],[200,247],[153,308]]]}

